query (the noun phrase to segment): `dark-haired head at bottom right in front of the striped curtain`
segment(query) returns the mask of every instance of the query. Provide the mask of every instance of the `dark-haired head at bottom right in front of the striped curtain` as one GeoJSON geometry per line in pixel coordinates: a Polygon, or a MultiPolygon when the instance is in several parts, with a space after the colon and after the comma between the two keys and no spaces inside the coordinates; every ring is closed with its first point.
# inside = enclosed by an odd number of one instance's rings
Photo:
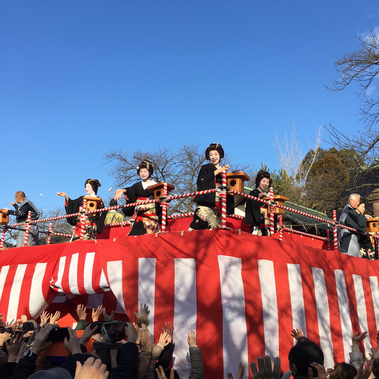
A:
{"type": "MultiPolygon", "coordinates": [[[[299,338],[297,344],[288,353],[289,369],[292,375],[308,377],[308,368],[311,363],[320,363],[324,366],[324,353],[320,346],[305,337],[299,338]]],[[[313,376],[317,377],[317,370],[312,368],[313,376]]]]}

